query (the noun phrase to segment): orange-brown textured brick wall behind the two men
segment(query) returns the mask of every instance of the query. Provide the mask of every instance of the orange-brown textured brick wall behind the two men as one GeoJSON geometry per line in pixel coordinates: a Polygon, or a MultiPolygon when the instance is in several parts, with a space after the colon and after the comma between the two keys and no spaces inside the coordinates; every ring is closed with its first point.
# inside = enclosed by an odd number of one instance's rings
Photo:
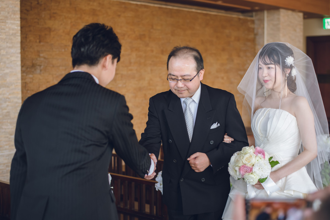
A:
{"type": "Polygon", "coordinates": [[[108,88],[125,95],[138,138],[149,97],[169,89],[167,55],[177,45],[197,47],[203,82],[234,93],[242,109],[237,85],[255,56],[253,19],[113,0],[21,2],[22,100],[71,70],[72,36],[90,22],[112,26],[123,45],[108,88]]]}

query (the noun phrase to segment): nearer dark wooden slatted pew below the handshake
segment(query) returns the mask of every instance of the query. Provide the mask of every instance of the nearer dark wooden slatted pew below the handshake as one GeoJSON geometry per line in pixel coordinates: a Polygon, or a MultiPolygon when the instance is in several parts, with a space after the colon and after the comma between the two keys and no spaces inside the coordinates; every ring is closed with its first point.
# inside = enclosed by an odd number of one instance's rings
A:
{"type": "Polygon", "coordinates": [[[110,173],[119,219],[166,220],[167,209],[154,180],[110,173]]]}

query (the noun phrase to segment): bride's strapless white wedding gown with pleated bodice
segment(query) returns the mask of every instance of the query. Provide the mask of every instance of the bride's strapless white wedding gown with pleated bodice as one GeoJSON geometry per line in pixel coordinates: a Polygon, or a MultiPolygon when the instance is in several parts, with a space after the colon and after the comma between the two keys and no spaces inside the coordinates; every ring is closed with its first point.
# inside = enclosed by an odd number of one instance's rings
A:
{"type": "MultiPolygon", "coordinates": [[[[298,156],[301,137],[296,117],[289,112],[281,109],[258,109],[253,116],[251,129],[255,146],[261,147],[270,157],[273,157],[273,160],[280,162],[272,168],[272,171],[281,168],[298,156]]],[[[233,186],[222,216],[223,219],[232,218],[235,195],[240,194],[249,198],[247,184],[243,179],[235,180],[230,177],[230,181],[233,186]]],[[[276,185],[280,187],[280,190],[269,196],[264,189],[258,190],[253,187],[256,198],[304,198],[306,194],[317,190],[305,167],[280,179],[276,185]]]]}

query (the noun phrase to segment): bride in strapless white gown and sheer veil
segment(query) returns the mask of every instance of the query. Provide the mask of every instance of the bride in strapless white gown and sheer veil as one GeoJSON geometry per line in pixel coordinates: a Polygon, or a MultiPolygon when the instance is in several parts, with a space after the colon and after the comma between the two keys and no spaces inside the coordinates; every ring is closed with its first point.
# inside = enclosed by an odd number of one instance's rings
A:
{"type": "Polygon", "coordinates": [[[267,192],[258,182],[252,187],[255,193],[248,193],[243,179],[230,177],[232,188],[222,218],[232,218],[237,194],[304,198],[328,185],[324,177],[329,173],[329,130],[311,59],[287,43],[266,44],[238,90],[245,95],[248,109],[243,114],[251,118],[250,145],[263,148],[280,162],[268,177],[279,190],[267,192]]]}

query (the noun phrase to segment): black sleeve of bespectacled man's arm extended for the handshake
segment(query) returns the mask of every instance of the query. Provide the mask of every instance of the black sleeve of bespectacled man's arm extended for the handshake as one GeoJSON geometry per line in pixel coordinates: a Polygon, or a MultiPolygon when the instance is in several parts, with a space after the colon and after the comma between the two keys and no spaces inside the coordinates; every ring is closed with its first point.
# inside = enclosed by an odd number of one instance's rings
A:
{"type": "Polygon", "coordinates": [[[152,99],[149,99],[148,121],[144,133],[141,134],[139,143],[144,146],[149,153],[159,156],[160,145],[162,143],[159,118],[153,104],[152,99]]]}

